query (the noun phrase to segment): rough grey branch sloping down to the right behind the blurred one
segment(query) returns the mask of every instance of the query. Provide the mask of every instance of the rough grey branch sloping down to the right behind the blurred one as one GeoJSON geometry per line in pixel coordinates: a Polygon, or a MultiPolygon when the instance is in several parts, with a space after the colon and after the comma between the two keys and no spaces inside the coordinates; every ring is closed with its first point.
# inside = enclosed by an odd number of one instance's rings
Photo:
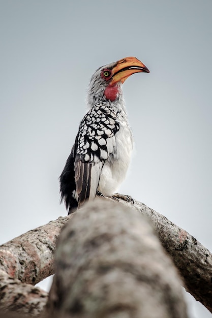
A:
{"type": "MultiPolygon", "coordinates": [[[[127,205],[129,206],[129,203],[127,205]]],[[[184,278],[186,290],[212,312],[210,251],[188,232],[145,204],[135,201],[133,208],[150,218],[162,245],[184,278]]]]}

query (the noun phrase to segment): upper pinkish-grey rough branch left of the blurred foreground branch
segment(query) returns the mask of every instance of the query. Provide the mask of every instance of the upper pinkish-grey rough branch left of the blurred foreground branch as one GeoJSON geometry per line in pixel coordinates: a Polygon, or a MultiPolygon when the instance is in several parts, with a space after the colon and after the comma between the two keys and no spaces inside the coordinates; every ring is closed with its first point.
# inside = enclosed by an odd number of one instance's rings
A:
{"type": "Polygon", "coordinates": [[[33,285],[52,275],[55,242],[69,218],[59,217],[1,245],[0,270],[33,285]]]}

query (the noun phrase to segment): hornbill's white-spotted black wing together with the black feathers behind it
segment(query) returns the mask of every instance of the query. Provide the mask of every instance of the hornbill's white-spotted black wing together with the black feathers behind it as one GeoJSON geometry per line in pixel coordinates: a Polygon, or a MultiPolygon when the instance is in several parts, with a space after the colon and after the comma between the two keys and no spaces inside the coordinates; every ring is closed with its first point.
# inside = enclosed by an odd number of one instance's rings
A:
{"type": "Polygon", "coordinates": [[[79,126],[75,144],[60,175],[61,199],[69,214],[79,203],[95,198],[105,160],[115,147],[116,115],[105,104],[92,107],[79,126]]]}

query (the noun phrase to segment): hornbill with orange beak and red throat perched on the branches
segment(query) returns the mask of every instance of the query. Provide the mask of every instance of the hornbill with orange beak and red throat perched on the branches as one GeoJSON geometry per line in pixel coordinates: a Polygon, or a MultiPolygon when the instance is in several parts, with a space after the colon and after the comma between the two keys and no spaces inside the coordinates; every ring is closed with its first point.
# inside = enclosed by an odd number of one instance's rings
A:
{"type": "Polygon", "coordinates": [[[59,177],[61,202],[68,214],[95,197],[116,194],[125,179],[133,150],[133,135],[122,84],[134,73],[149,73],[136,57],[125,57],[100,67],[90,79],[88,110],[59,177]]]}

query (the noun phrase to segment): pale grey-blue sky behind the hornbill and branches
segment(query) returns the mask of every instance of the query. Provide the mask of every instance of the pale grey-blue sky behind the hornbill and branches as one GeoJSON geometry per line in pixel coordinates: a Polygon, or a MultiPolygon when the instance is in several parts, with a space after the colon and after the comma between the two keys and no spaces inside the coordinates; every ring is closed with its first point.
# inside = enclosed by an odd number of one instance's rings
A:
{"type": "MultiPolygon", "coordinates": [[[[136,56],[123,90],[136,151],[120,192],[212,250],[211,0],[0,2],[0,243],[66,215],[58,177],[95,70],[136,56]]],[[[188,297],[191,318],[211,314],[188,297]]]]}

